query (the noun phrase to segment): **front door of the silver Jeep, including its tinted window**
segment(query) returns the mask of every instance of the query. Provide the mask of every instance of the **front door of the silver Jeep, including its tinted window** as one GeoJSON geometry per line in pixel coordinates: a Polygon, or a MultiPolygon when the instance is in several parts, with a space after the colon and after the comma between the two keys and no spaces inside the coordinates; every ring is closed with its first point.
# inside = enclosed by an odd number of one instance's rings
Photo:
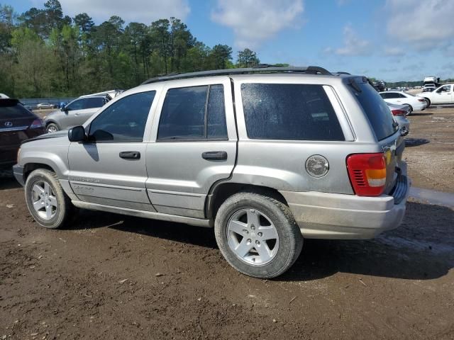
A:
{"type": "Polygon", "coordinates": [[[72,142],[70,185],[79,200],[155,211],[145,191],[148,114],[155,91],[123,97],[87,125],[87,142],[72,142]]]}

